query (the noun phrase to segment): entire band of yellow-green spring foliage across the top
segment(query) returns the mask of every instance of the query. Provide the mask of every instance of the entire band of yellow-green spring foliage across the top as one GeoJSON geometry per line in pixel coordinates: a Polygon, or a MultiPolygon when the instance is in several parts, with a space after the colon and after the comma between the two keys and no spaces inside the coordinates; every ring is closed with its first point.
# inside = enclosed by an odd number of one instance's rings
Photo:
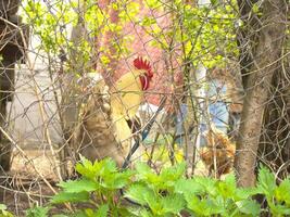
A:
{"type": "MultiPolygon", "coordinates": [[[[180,0],[168,4],[160,0],[142,3],[125,0],[110,3],[105,9],[92,0],[24,2],[22,16],[31,24],[34,35],[39,37],[39,49],[49,55],[58,56],[60,50],[66,53],[77,50],[85,63],[100,53],[101,64],[109,65],[111,60],[131,53],[130,44],[137,39],[124,33],[127,25],[141,26],[147,33],[143,37],[152,38],[148,44],[164,51],[171,51],[178,44],[182,51],[177,61],[182,63],[214,67],[238,55],[235,25],[239,21],[235,0],[227,3],[212,1],[212,4],[202,7],[180,0]],[[150,13],[140,13],[140,8],[150,13]],[[114,13],[116,18],[112,18],[114,13]],[[172,23],[169,28],[164,29],[160,25],[159,20],[163,16],[172,23]],[[70,40],[70,29],[76,25],[86,26],[87,36],[74,44],[70,40]],[[110,35],[110,46],[96,47],[96,39],[102,39],[106,34],[110,35]]],[[[101,41],[98,43],[101,44],[101,41]]]]}

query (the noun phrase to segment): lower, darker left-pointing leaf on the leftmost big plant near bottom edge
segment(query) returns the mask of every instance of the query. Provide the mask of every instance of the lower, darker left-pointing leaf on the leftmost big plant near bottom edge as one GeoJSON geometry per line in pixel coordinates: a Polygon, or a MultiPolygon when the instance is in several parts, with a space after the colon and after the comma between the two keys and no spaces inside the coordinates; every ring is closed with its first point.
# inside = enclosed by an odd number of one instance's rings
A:
{"type": "Polygon", "coordinates": [[[87,202],[89,200],[89,193],[88,192],[79,192],[79,193],[67,193],[67,192],[60,192],[55,194],[51,203],[52,204],[61,204],[61,203],[67,203],[67,202],[87,202]]]}

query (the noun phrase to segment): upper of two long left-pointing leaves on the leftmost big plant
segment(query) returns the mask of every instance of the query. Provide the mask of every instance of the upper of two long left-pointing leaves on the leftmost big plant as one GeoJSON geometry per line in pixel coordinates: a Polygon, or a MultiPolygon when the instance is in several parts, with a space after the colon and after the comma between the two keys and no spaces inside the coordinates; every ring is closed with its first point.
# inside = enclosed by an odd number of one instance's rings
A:
{"type": "Polygon", "coordinates": [[[58,186],[62,187],[63,191],[67,193],[92,192],[100,188],[96,181],[88,179],[61,182],[58,186]]]}

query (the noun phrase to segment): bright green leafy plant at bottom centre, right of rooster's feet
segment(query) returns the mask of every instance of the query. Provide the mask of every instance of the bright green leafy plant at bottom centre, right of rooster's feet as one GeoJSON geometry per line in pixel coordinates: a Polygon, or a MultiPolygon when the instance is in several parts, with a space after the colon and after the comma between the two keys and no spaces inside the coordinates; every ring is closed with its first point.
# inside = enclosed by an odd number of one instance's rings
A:
{"type": "Polygon", "coordinates": [[[159,175],[139,163],[136,166],[136,181],[129,186],[125,196],[138,202],[142,207],[131,212],[141,216],[177,215],[185,207],[185,199],[174,191],[174,184],[185,174],[185,164],[164,168],[159,175]]]}

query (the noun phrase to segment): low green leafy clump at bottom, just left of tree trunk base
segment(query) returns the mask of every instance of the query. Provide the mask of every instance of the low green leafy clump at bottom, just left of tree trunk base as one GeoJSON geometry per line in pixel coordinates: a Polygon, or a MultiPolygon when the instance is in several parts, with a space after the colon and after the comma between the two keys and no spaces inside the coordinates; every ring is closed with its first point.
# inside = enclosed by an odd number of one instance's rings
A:
{"type": "Polygon", "coordinates": [[[254,191],[238,189],[234,175],[225,181],[204,177],[182,179],[176,183],[176,191],[185,195],[187,208],[192,215],[256,216],[260,213],[260,205],[251,200],[254,191]]]}

